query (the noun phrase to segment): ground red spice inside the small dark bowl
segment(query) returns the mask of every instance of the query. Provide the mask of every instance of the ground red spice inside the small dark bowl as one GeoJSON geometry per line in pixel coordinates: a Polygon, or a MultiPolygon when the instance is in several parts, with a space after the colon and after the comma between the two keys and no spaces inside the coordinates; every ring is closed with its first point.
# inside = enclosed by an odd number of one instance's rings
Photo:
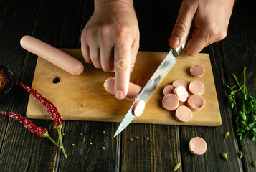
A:
{"type": "Polygon", "coordinates": [[[7,70],[0,70],[0,95],[4,94],[11,87],[14,76],[7,70]]]}

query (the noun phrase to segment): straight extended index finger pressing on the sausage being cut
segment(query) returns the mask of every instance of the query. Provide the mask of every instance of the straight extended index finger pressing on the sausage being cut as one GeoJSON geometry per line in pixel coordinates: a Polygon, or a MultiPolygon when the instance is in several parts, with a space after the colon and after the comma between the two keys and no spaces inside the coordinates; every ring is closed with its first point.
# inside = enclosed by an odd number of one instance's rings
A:
{"type": "Polygon", "coordinates": [[[131,66],[131,45],[117,44],[114,49],[115,63],[115,97],[123,99],[128,92],[131,66]]]}

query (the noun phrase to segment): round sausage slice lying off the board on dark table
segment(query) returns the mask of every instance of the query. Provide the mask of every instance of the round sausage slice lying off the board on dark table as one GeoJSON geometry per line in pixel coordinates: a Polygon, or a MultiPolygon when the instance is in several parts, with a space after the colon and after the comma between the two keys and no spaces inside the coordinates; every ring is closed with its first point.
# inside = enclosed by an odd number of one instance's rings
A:
{"type": "Polygon", "coordinates": [[[196,156],[201,156],[207,151],[207,143],[200,137],[191,138],[189,141],[189,151],[196,156]]]}

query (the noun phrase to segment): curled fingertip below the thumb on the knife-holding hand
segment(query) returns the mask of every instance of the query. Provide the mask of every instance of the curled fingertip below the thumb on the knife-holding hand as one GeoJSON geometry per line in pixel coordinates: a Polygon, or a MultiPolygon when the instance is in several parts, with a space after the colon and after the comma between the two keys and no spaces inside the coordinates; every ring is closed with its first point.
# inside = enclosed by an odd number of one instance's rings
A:
{"type": "Polygon", "coordinates": [[[203,32],[202,29],[195,28],[192,31],[192,37],[186,44],[185,53],[194,56],[202,51],[204,47],[209,43],[208,33],[203,32]]]}

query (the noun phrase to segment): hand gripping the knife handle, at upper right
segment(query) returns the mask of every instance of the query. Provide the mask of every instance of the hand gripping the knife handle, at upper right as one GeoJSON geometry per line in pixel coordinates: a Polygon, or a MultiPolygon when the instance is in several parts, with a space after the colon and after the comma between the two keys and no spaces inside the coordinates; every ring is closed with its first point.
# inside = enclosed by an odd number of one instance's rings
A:
{"type": "Polygon", "coordinates": [[[227,36],[234,0],[184,0],[169,39],[172,48],[181,46],[189,32],[185,53],[198,54],[209,44],[227,36]]]}

